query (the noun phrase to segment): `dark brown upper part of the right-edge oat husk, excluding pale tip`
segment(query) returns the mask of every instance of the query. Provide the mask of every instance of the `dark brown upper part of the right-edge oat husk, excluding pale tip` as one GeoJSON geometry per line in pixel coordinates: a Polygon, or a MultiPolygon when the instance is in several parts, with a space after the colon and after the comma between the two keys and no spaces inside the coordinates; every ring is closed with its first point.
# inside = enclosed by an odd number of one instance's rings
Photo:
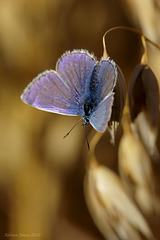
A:
{"type": "Polygon", "coordinates": [[[159,87],[156,76],[147,65],[135,68],[129,86],[129,108],[131,120],[141,111],[146,111],[150,124],[159,127],[159,87]]]}

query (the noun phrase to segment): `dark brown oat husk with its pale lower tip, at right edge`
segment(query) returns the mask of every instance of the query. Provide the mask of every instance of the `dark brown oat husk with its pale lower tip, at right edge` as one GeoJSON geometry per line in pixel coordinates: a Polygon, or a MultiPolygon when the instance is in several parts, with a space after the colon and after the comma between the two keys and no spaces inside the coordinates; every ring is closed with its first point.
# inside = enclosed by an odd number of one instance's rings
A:
{"type": "Polygon", "coordinates": [[[159,86],[148,65],[135,68],[129,86],[131,120],[151,156],[157,158],[157,133],[159,128],[159,86]],[[144,127],[145,126],[145,127],[144,127]]]}

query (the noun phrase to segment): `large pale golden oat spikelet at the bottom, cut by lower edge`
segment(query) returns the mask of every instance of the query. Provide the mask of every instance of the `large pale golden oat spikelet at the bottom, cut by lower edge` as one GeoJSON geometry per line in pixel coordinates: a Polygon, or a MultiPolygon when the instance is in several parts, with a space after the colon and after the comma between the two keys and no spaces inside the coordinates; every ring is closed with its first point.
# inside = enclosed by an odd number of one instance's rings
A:
{"type": "Polygon", "coordinates": [[[106,240],[141,240],[153,235],[127,195],[120,178],[105,166],[91,167],[85,177],[85,197],[92,218],[106,240]]]}

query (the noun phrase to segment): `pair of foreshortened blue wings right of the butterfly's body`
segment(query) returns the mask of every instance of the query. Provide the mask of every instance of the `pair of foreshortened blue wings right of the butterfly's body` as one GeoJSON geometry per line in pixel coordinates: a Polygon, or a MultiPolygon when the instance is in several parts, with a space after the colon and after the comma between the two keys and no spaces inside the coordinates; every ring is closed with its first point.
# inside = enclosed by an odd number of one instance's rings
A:
{"type": "Polygon", "coordinates": [[[117,75],[116,63],[110,58],[102,59],[98,72],[100,101],[90,116],[91,125],[99,132],[105,131],[111,117],[117,75]]]}

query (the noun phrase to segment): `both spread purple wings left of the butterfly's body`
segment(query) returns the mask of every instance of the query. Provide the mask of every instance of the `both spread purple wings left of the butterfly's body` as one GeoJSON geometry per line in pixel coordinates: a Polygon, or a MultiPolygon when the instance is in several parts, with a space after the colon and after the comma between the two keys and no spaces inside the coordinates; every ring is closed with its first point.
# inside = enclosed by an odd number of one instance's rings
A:
{"type": "Polygon", "coordinates": [[[44,111],[81,115],[85,84],[92,74],[95,59],[83,50],[66,53],[57,71],[39,74],[24,90],[21,99],[44,111]]]}

